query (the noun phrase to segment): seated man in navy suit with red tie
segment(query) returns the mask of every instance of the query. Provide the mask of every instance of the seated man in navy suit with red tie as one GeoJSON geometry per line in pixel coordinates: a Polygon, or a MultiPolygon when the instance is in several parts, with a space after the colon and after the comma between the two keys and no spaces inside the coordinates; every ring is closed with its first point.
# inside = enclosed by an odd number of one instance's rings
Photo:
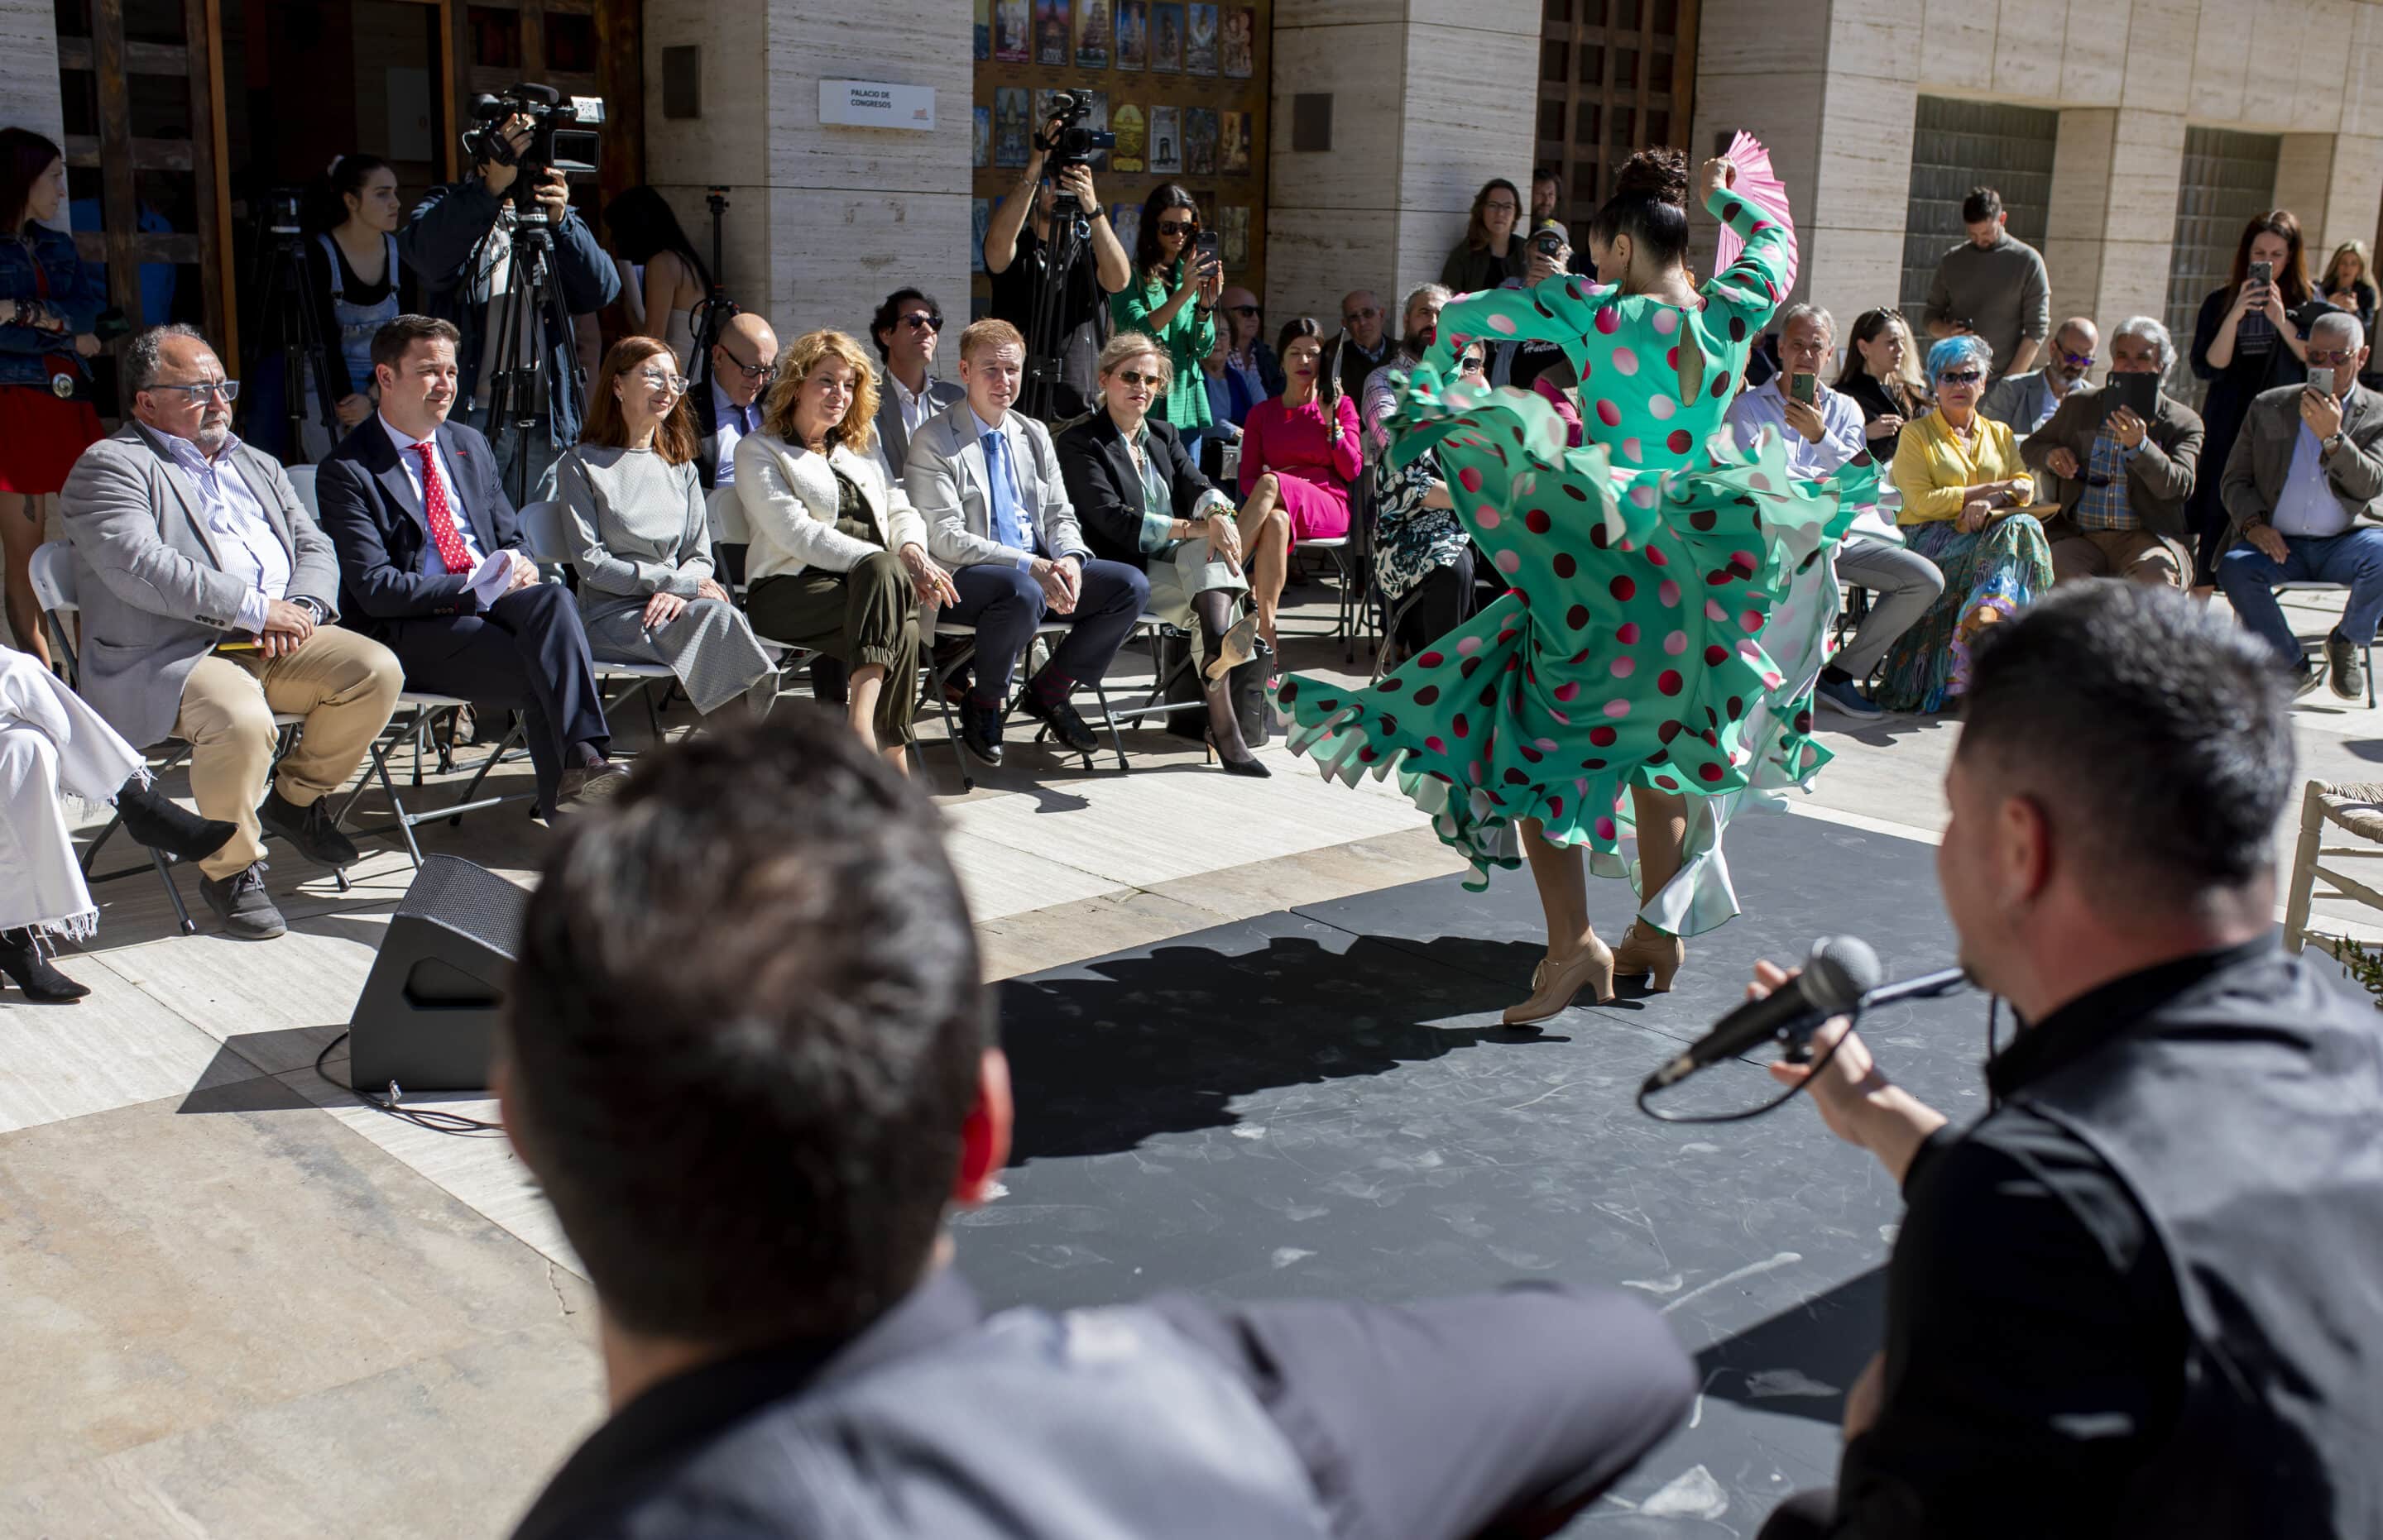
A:
{"type": "Polygon", "coordinates": [[[431,317],[398,317],[372,338],[381,409],[315,488],[341,612],[398,655],[407,688],[522,709],[539,812],[601,802],[627,771],[605,759],[596,659],[570,590],[541,583],[519,550],[489,440],[448,421],[455,340],[431,317]]]}

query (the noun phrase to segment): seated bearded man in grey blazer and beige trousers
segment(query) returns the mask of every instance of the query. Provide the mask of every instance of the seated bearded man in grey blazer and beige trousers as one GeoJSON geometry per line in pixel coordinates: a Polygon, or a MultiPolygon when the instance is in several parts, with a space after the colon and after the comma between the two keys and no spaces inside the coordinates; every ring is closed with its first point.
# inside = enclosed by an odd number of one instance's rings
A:
{"type": "Polygon", "coordinates": [[[236,386],[207,340],[141,333],[124,388],[133,419],[83,452],[60,497],[83,605],[79,686],[131,743],[191,743],[198,812],[234,826],[198,862],[200,895],[234,935],[281,935],[260,831],[326,866],[355,859],[324,797],[405,676],[388,647],[331,624],[331,543],[281,467],[234,438],[236,386]],[[305,716],[279,769],[274,712],[305,716]]]}

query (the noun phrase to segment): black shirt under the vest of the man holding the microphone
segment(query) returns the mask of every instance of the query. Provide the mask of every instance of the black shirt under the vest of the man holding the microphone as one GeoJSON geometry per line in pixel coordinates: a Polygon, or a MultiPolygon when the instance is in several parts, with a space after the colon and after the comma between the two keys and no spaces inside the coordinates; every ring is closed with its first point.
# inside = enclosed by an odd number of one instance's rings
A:
{"type": "MultiPolygon", "coordinates": [[[[2102,1050],[2259,938],[2111,981],[1987,1064],[1997,1100],[2102,1050]]],[[[1997,1107],[1904,1176],[1878,1421],[1844,1450],[1833,1535],[2099,1535],[2176,1423],[2190,1347],[2149,1216],[2076,1133],[1997,1107]]]]}

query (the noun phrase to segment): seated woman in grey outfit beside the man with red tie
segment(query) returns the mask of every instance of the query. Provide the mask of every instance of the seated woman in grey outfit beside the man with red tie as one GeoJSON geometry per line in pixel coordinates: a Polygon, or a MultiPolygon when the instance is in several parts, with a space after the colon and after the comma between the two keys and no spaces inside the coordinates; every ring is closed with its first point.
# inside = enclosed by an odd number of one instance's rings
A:
{"type": "Polygon", "coordinates": [[[696,486],[696,426],[670,343],[612,343],[579,443],[555,462],[579,574],[579,624],[612,662],[670,664],[710,716],[739,697],[777,700],[777,664],[713,576],[710,519],[696,486]]]}

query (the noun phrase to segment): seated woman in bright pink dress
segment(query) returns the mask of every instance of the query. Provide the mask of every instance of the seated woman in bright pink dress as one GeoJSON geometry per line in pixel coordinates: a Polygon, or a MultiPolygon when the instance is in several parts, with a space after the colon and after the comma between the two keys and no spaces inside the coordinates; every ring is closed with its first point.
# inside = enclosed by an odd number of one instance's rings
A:
{"type": "Polygon", "coordinates": [[[1258,636],[1280,657],[1275,609],[1292,545],[1349,533],[1349,483],[1361,467],[1361,445],[1356,402],[1342,395],[1339,371],[1323,364],[1315,317],[1284,324],[1275,352],[1282,357],[1282,395],[1251,407],[1242,424],[1242,550],[1249,552],[1258,636]]]}

